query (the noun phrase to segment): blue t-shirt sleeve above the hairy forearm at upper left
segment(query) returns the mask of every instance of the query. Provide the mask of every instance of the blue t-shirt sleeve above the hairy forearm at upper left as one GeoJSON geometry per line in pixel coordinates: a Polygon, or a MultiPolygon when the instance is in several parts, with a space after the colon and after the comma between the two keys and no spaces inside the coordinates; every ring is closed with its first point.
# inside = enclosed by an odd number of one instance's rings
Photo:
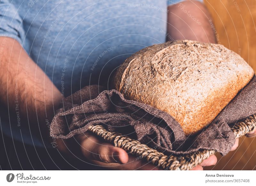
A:
{"type": "Polygon", "coordinates": [[[8,0],[0,1],[0,36],[16,39],[21,45],[25,37],[22,19],[15,6],[8,0]]]}

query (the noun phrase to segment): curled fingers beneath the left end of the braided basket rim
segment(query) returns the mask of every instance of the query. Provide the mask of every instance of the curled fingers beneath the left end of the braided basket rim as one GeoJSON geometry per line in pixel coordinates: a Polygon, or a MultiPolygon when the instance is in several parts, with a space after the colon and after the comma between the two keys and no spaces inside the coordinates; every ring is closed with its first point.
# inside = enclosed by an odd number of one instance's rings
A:
{"type": "Polygon", "coordinates": [[[96,160],[104,163],[124,164],[128,161],[128,154],[119,147],[109,143],[102,143],[99,138],[89,133],[84,133],[80,142],[83,155],[88,160],[96,160]]]}

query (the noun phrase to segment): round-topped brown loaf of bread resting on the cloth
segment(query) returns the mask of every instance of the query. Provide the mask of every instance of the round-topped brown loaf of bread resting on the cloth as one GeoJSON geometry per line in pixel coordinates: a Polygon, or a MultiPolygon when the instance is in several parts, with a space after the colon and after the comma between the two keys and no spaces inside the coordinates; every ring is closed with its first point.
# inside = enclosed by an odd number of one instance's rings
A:
{"type": "Polygon", "coordinates": [[[113,86],[126,99],[172,115],[189,135],[211,123],[253,75],[223,45],[179,40],[133,54],[116,71],[113,86]]]}

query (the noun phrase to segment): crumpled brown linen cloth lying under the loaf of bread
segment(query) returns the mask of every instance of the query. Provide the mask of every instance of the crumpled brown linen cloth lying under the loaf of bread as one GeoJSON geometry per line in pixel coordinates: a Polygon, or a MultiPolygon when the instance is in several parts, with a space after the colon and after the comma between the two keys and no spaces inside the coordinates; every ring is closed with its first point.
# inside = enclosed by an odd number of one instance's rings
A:
{"type": "Polygon", "coordinates": [[[101,124],[141,143],[170,154],[185,154],[198,149],[214,149],[227,154],[235,143],[232,123],[256,113],[256,77],[240,91],[204,130],[185,136],[174,118],[149,105],[124,99],[116,90],[102,86],[86,86],[68,96],[52,120],[50,134],[54,138],[70,138],[101,124]]]}

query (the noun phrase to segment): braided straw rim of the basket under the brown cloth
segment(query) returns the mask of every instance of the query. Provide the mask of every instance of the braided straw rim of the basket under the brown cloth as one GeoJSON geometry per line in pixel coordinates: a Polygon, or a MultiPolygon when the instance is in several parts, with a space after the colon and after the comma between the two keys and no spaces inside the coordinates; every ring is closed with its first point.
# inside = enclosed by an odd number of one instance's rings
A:
{"type": "MultiPolygon", "coordinates": [[[[235,123],[232,131],[236,138],[240,138],[255,128],[256,114],[250,115],[248,118],[235,123]]],[[[147,160],[157,167],[164,170],[190,170],[203,160],[216,153],[215,150],[199,149],[195,153],[185,154],[182,157],[174,155],[166,156],[155,149],[141,144],[137,140],[125,137],[117,132],[110,132],[102,125],[91,125],[88,130],[102,137],[104,140],[114,144],[116,147],[124,149],[128,153],[132,153],[140,159],[147,160]]]]}

